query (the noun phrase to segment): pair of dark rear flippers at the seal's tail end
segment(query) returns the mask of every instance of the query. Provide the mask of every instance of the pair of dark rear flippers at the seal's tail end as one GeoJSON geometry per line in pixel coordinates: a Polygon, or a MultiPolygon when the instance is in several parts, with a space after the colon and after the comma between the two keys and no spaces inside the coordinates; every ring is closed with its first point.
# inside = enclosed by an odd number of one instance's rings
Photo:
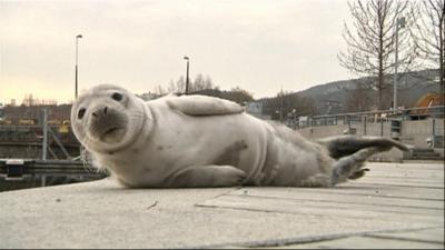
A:
{"type": "Polygon", "coordinates": [[[318,141],[328,150],[332,158],[337,159],[333,168],[332,183],[357,179],[368,169],[363,169],[365,161],[373,154],[387,151],[393,147],[408,151],[409,147],[389,138],[383,137],[334,137],[318,141]]]}

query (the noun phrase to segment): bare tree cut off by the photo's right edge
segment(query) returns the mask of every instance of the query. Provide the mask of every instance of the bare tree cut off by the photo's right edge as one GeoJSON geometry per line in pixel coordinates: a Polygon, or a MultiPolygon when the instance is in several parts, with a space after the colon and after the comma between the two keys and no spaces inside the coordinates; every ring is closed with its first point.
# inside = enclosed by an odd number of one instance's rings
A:
{"type": "MultiPolygon", "coordinates": [[[[414,10],[414,9],[413,9],[414,10]]],[[[445,4],[444,0],[422,0],[416,8],[421,12],[412,36],[425,66],[438,69],[441,104],[444,104],[445,78],[445,4]]]]}

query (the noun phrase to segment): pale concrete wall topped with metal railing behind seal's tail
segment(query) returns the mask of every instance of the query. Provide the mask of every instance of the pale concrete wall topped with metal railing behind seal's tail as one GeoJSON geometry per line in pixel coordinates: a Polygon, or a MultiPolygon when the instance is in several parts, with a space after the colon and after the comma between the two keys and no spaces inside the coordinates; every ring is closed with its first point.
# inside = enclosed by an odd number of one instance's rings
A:
{"type": "Polygon", "coordinates": [[[338,134],[382,136],[416,147],[443,148],[444,107],[315,116],[286,121],[308,138],[338,134]]]}

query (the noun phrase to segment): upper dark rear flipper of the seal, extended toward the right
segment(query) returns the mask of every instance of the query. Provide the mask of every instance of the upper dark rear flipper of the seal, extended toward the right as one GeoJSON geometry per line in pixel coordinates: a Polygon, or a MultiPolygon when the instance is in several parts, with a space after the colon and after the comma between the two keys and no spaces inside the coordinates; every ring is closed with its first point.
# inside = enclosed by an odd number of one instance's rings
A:
{"type": "Polygon", "coordinates": [[[408,151],[409,147],[384,137],[354,137],[342,136],[324,138],[317,141],[326,147],[332,158],[339,159],[342,157],[350,156],[362,149],[369,147],[378,148],[378,151],[387,151],[393,147],[400,150],[408,151]]]}

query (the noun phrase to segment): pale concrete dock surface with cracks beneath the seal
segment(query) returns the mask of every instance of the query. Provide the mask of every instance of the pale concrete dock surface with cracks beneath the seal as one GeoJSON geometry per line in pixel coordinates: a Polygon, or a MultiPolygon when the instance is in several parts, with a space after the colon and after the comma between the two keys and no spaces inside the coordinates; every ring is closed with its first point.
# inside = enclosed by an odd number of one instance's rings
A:
{"type": "Polygon", "coordinates": [[[444,163],[367,163],[332,189],[123,189],[113,180],[0,193],[0,248],[444,249],[444,163]]]}

